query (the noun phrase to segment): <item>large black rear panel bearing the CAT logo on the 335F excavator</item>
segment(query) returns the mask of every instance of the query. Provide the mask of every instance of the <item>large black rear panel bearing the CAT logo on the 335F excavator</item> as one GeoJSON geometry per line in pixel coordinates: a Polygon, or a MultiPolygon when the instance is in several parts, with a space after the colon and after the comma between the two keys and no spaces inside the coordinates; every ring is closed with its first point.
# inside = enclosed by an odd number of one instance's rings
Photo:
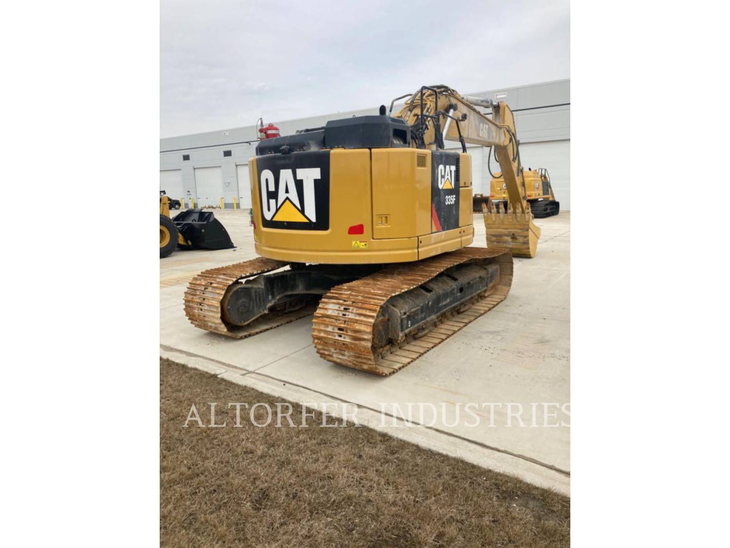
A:
{"type": "Polygon", "coordinates": [[[329,228],[329,151],[258,156],[256,175],[264,228],[329,228]]]}

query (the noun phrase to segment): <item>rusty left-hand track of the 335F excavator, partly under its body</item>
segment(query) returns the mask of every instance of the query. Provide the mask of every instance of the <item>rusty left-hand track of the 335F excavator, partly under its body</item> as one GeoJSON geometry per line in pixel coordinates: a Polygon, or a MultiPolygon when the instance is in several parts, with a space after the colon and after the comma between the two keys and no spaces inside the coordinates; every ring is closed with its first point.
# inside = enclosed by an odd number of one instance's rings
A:
{"type": "Polygon", "coordinates": [[[223,321],[222,302],[229,287],[245,278],[278,270],[287,265],[288,262],[257,257],[236,265],[204,270],[190,281],[188,289],[185,290],[185,316],[188,316],[195,327],[202,330],[239,339],[310,316],[315,311],[315,306],[300,308],[293,312],[269,313],[245,326],[231,325],[223,321]]]}

